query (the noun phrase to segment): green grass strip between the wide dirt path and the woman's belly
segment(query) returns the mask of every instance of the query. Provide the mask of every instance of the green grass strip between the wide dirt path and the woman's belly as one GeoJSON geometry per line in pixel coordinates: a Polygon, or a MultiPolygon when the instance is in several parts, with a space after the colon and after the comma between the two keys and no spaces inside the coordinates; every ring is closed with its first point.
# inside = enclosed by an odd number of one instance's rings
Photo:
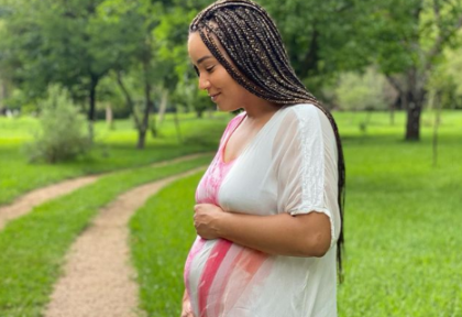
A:
{"type": "Polygon", "coordinates": [[[141,308],[151,317],[179,316],[183,267],[196,237],[193,206],[200,175],[161,190],[130,221],[141,308]],[[180,199],[178,199],[182,197],[180,199]]]}

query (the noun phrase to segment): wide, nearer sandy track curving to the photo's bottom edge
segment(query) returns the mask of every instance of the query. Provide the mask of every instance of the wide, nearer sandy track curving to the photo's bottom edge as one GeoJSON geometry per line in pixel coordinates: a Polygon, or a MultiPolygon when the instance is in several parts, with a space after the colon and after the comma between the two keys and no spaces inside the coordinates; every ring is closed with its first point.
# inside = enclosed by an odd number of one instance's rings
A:
{"type": "Polygon", "coordinates": [[[130,264],[128,222],[162,187],[205,168],[135,187],[101,209],[72,247],[45,317],[140,316],[135,273],[130,264]]]}

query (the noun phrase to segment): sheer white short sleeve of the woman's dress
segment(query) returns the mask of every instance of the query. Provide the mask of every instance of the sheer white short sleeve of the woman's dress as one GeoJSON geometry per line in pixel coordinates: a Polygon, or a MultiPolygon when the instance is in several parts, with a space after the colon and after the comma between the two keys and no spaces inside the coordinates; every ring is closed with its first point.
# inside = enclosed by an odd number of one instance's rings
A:
{"type": "Polygon", "coordinates": [[[278,210],[293,216],[322,212],[330,219],[331,247],[339,237],[338,154],[326,114],[312,105],[288,107],[275,136],[278,210]]]}

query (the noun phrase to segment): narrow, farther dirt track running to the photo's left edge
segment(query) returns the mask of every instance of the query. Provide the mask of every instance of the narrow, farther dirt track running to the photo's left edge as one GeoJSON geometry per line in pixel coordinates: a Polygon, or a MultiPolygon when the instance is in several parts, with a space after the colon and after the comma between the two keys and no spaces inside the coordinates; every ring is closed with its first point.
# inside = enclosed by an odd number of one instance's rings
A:
{"type": "MultiPolygon", "coordinates": [[[[172,164],[172,163],[176,163],[180,161],[193,160],[202,155],[207,155],[207,153],[190,154],[190,155],[182,156],[182,157],[169,160],[169,161],[162,161],[162,162],[154,163],[151,166],[162,166],[162,165],[172,164]]],[[[120,172],[120,171],[121,170],[118,170],[116,172],[120,172]]],[[[57,198],[59,196],[69,194],[70,192],[79,187],[86,186],[88,184],[91,184],[98,181],[101,176],[108,175],[110,173],[114,173],[114,172],[109,172],[106,174],[98,174],[98,175],[90,175],[90,176],[82,176],[78,178],[64,181],[57,184],[53,184],[43,188],[32,190],[25,194],[24,196],[19,197],[11,205],[1,206],[0,207],[0,230],[3,229],[4,226],[9,221],[32,211],[32,209],[35,206],[42,205],[43,203],[51,200],[53,198],[57,198]]]]}

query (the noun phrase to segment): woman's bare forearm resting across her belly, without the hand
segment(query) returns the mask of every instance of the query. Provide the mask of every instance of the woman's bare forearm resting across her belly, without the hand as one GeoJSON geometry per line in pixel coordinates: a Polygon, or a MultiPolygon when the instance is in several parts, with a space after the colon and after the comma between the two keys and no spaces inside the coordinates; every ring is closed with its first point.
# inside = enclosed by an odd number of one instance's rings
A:
{"type": "Polygon", "coordinates": [[[234,243],[270,254],[322,256],[330,247],[330,220],[310,212],[253,216],[223,212],[216,221],[217,234],[234,243]]]}

